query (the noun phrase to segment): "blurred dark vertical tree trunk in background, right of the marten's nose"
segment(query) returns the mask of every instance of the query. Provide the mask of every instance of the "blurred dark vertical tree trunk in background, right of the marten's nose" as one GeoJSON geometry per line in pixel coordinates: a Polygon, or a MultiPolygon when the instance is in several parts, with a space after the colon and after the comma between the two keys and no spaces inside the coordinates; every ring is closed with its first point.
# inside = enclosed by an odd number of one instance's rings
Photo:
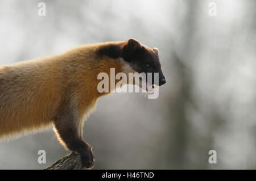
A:
{"type": "MultiPolygon", "coordinates": [[[[184,16],[183,27],[181,31],[181,41],[175,45],[172,57],[175,62],[175,73],[179,82],[179,90],[175,94],[175,98],[170,100],[170,114],[172,119],[170,124],[171,139],[170,142],[170,162],[172,169],[207,169],[208,148],[212,144],[211,133],[200,138],[199,133],[191,129],[191,117],[187,116],[188,105],[197,110],[195,99],[193,98],[193,58],[195,53],[194,37],[196,28],[200,20],[198,15],[199,1],[186,1],[187,14],[184,16]],[[191,137],[193,136],[193,137],[191,137]],[[200,143],[196,140],[204,141],[200,143]],[[194,144],[191,144],[193,142],[194,144]],[[193,147],[192,147],[193,146],[193,147]],[[192,151],[192,153],[190,153],[192,151]],[[203,155],[202,155],[203,154],[203,155]],[[192,158],[196,155],[196,158],[192,158]],[[204,158],[204,159],[197,159],[204,158]],[[196,160],[196,162],[194,161],[196,160]]],[[[198,50],[197,50],[198,51],[198,50]]],[[[198,51],[200,52],[200,51],[198,51]]]]}

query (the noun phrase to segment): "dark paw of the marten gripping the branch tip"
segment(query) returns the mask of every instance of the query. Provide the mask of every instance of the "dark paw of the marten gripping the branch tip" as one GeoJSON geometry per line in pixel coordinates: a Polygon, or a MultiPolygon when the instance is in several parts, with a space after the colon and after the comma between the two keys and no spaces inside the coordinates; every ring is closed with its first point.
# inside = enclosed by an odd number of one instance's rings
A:
{"type": "Polygon", "coordinates": [[[92,169],[95,162],[92,146],[88,145],[85,150],[81,151],[80,155],[82,159],[82,168],[86,167],[87,169],[92,169]]]}

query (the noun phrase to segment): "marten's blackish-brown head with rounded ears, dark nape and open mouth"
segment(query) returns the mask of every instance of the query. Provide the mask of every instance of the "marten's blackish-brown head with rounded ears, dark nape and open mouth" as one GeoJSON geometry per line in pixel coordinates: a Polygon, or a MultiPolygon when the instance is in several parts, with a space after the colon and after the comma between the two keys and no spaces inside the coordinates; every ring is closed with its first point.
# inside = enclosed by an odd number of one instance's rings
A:
{"type": "MultiPolygon", "coordinates": [[[[161,86],[166,83],[159,62],[158,49],[148,48],[135,39],[129,39],[122,43],[109,43],[100,48],[100,54],[111,58],[120,58],[125,61],[133,72],[146,73],[146,78],[141,78],[139,86],[147,91],[152,91],[154,85],[161,86]],[[152,73],[152,85],[148,83],[148,74],[152,73]],[[158,81],[154,78],[154,73],[159,74],[158,81]]],[[[126,72],[127,73],[127,72],[126,72]]]]}

